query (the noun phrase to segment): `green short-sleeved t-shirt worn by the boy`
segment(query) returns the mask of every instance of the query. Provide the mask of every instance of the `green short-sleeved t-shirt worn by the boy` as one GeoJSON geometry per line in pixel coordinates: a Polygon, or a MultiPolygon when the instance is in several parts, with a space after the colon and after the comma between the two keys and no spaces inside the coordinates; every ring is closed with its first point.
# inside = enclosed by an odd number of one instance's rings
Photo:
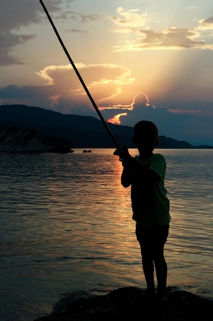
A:
{"type": "Polygon", "coordinates": [[[151,180],[146,176],[132,172],[131,200],[132,218],[143,226],[163,226],[170,223],[170,202],[164,187],[165,158],[161,154],[147,157],[136,156],[135,159],[159,175],[151,180]]]}

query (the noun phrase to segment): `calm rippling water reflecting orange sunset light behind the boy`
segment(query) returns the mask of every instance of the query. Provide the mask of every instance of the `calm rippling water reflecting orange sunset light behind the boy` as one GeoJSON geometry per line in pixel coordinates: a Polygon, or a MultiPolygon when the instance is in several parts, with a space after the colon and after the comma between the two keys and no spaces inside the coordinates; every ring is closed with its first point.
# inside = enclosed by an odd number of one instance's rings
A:
{"type": "MultiPolygon", "coordinates": [[[[59,293],[145,288],[113,151],[0,154],[2,321],[50,313],[59,293]]],[[[213,150],[155,152],[167,159],[168,286],[213,298],[213,150]]]]}

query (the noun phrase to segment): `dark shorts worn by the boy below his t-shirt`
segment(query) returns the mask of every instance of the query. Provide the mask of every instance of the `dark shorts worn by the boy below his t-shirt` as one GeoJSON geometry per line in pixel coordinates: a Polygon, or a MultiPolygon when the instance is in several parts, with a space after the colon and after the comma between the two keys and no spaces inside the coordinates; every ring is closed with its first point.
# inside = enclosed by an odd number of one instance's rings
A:
{"type": "Polygon", "coordinates": [[[147,227],[136,223],[135,234],[141,245],[165,244],[169,234],[170,225],[147,227]]]}

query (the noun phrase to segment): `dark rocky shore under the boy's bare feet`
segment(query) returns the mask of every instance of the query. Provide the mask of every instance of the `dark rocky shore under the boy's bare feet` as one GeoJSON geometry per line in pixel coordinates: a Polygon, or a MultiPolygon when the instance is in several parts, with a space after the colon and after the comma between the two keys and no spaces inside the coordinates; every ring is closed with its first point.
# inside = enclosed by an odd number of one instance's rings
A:
{"type": "Polygon", "coordinates": [[[210,321],[213,300],[186,291],[168,289],[168,301],[144,296],[144,290],[127,287],[106,295],[64,295],[51,315],[34,321],[210,321]]]}

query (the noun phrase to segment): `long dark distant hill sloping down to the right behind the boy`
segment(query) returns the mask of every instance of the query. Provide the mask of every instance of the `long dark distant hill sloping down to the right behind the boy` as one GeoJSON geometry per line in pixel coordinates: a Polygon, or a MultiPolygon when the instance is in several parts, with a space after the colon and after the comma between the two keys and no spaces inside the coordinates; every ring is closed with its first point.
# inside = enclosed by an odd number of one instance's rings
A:
{"type": "MultiPolygon", "coordinates": [[[[20,129],[35,129],[41,136],[50,139],[69,142],[72,148],[114,148],[114,143],[107,133],[102,122],[91,116],[79,116],[73,114],[61,114],[52,110],[25,105],[1,105],[0,127],[16,126],[20,129]]],[[[119,144],[125,144],[129,148],[135,148],[131,137],[133,128],[129,126],[108,126],[119,144]]],[[[209,148],[212,146],[193,146],[184,141],[159,136],[157,148],[209,148]]]]}

